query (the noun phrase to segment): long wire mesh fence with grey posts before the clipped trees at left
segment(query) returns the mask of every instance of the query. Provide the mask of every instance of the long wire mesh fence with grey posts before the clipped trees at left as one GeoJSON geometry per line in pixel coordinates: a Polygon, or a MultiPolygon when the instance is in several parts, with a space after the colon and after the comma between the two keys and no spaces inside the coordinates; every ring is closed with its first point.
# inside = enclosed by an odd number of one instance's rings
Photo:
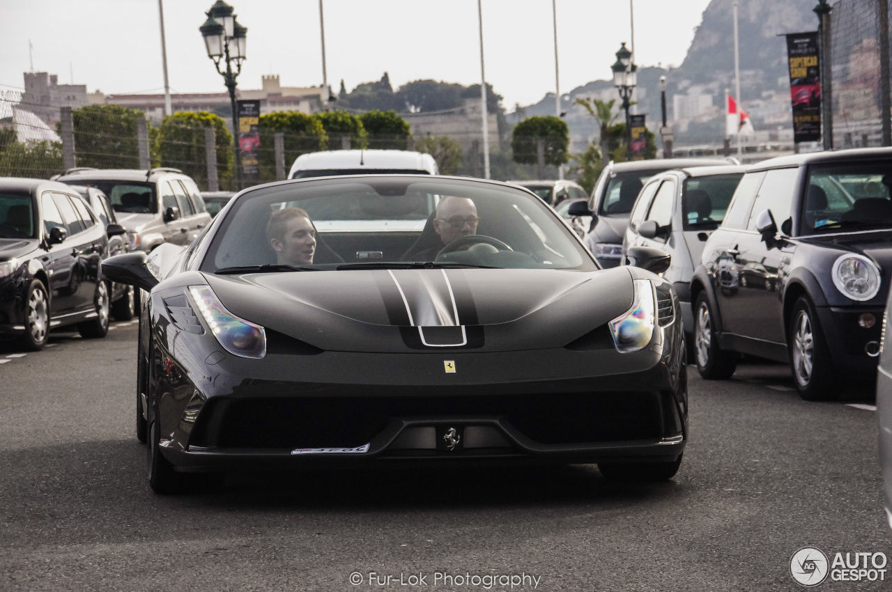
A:
{"type": "MultiPolygon", "coordinates": [[[[202,190],[235,190],[233,138],[221,119],[165,118],[160,127],[143,114],[114,105],[54,107],[15,91],[0,92],[0,177],[48,178],[73,167],[150,169],[172,167],[202,190]]],[[[509,142],[491,144],[491,177],[556,178],[554,167],[518,164],[509,142]]],[[[320,150],[385,148],[427,152],[442,174],[483,177],[480,141],[451,136],[308,136],[260,128],[257,165],[243,168],[243,185],[284,179],[301,154],[320,150]]]]}

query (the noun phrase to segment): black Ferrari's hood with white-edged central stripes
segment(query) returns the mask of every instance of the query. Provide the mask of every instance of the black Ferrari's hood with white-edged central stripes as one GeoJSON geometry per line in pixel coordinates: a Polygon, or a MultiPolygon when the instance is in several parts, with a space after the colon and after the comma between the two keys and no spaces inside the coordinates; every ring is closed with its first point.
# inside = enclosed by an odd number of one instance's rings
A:
{"type": "Polygon", "coordinates": [[[622,315],[633,292],[632,276],[621,267],[205,277],[235,316],[320,349],[350,351],[404,351],[417,327],[475,327],[482,335],[478,350],[563,347],[622,315]]]}

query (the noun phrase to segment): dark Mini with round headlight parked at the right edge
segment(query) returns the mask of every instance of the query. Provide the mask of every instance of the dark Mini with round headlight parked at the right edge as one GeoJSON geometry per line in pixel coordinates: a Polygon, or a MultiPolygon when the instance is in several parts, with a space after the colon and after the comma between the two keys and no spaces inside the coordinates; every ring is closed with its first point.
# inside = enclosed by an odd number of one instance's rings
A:
{"type": "Polygon", "coordinates": [[[892,149],[765,160],[691,283],[700,374],[727,378],[746,353],[789,362],[803,399],[835,399],[876,375],[890,281],[892,149]]]}

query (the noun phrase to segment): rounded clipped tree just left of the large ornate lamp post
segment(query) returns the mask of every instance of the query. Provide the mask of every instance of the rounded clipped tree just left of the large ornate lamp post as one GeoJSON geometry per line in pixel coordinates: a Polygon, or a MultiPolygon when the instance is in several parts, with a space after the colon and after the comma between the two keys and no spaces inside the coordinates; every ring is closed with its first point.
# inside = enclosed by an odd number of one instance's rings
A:
{"type": "Polygon", "coordinates": [[[219,116],[207,111],[181,111],[161,122],[155,150],[162,167],[182,170],[201,187],[208,186],[204,128],[214,130],[217,147],[217,178],[221,188],[235,189],[235,153],[232,134],[219,116]]]}

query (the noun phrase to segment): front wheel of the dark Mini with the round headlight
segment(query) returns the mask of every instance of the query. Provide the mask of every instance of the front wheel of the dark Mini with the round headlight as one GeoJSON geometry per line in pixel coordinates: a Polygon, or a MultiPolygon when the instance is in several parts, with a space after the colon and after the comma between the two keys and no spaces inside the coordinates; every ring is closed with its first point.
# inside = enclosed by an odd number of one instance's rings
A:
{"type": "Polygon", "coordinates": [[[833,371],[830,350],[814,306],[806,296],[800,296],[793,306],[787,347],[799,396],[806,401],[838,399],[842,385],[833,371]]]}

